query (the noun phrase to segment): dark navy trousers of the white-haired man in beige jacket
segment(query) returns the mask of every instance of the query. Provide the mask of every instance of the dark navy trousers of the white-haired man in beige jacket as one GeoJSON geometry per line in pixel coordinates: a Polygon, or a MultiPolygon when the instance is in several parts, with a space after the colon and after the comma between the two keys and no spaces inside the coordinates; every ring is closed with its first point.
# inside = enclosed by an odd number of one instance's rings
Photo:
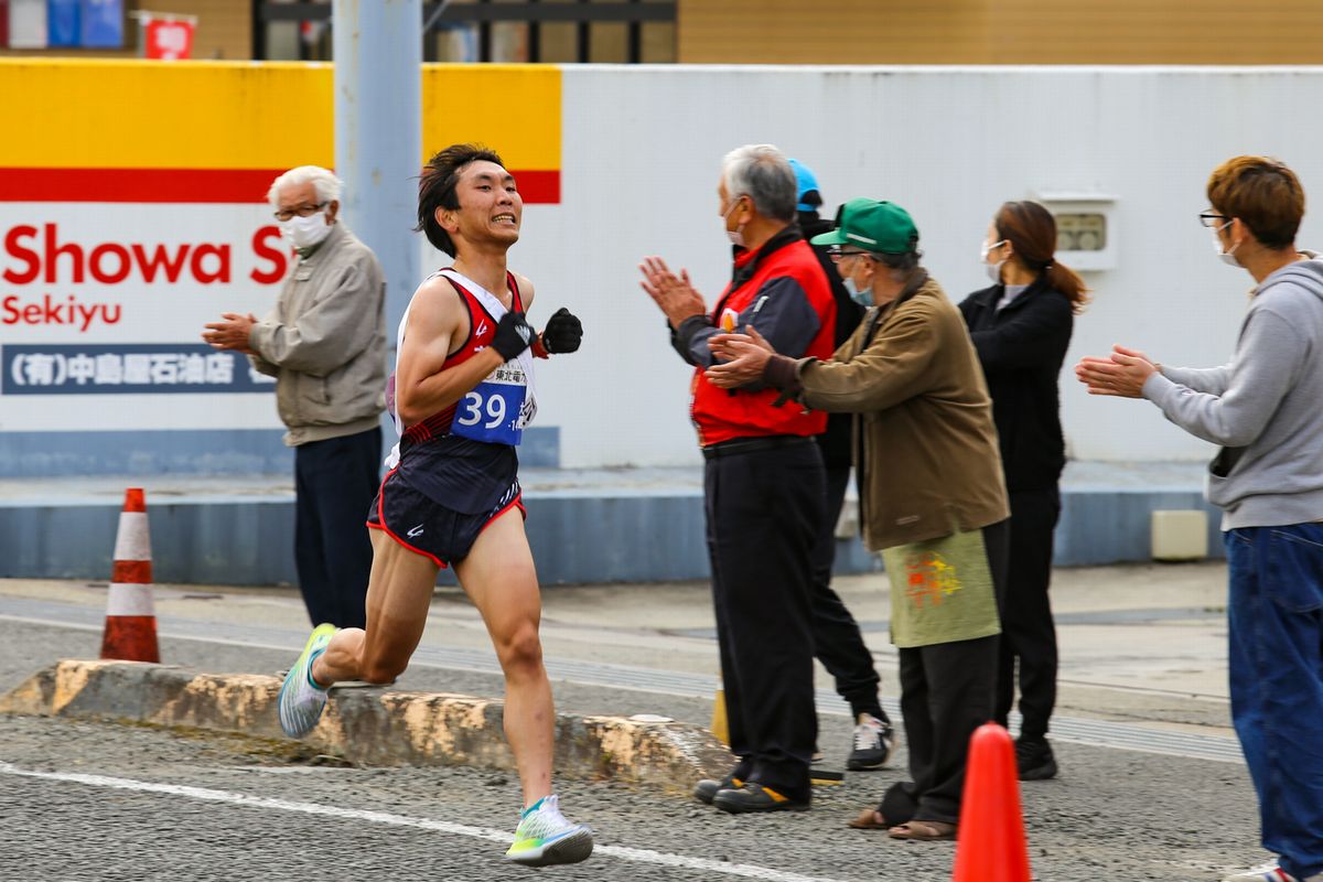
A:
{"type": "Polygon", "coordinates": [[[294,563],[312,624],[366,623],[372,541],[365,521],[380,464],[380,428],[294,448],[294,563]]]}

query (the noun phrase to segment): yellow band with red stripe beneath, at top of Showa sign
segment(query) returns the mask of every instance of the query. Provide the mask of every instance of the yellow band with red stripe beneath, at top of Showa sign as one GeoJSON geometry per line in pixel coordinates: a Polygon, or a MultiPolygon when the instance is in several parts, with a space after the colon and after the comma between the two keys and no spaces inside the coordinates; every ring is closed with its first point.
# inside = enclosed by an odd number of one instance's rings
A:
{"type": "MultiPolygon", "coordinates": [[[[310,62],[0,60],[0,198],[66,201],[86,179],[108,201],[251,201],[253,181],[335,165],[333,74],[310,62]],[[147,192],[184,169],[194,197],[147,192]]],[[[558,201],[558,67],[425,65],[421,77],[425,160],[480,141],[529,201],[558,201]]]]}

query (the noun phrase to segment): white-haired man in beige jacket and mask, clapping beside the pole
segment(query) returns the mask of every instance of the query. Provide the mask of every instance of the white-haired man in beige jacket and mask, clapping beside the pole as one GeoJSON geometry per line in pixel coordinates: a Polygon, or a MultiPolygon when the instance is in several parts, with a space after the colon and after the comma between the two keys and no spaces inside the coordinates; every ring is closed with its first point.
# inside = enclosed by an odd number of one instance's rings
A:
{"type": "Polygon", "coordinates": [[[246,353],[275,377],[294,447],[294,558],[312,624],[365,624],[372,543],[364,518],[380,483],[385,410],[385,276],[340,222],[340,179],[300,165],[267,200],[296,253],[275,307],[261,321],[226,312],[202,339],[246,353]]]}

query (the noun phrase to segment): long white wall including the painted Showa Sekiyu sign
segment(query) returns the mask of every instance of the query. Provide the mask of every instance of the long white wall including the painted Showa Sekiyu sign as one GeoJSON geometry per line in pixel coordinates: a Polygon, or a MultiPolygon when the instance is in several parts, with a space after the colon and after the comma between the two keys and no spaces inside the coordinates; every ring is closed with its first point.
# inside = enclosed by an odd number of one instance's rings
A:
{"type": "MultiPolygon", "coordinates": [[[[0,475],[118,468],[114,450],[131,467],[148,440],[202,471],[247,468],[241,446],[279,452],[270,383],[198,335],[275,298],[287,253],[261,200],[283,168],[333,163],[331,70],[15,62],[0,81],[24,120],[0,144],[0,475]]],[[[1323,193],[1323,67],[467,65],[425,66],[423,82],[429,151],[488,140],[520,176],[512,266],[537,286],[533,320],[583,319],[582,352],[538,374],[537,424],[560,430],[566,467],[700,461],[691,369],[638,263],[688,267],[714,301],[730,259],[720,163],[741,144],[812,167],[827,214],[857,196],[908,208],[953,300],[987,284],[979,246],[1003,201],[1110,196],[1114,264],[1085,272],[1095,301],[1062,372],[1076,459],[1208,455],[1152,406],[1090,398],[1070,368],[1114,342],[1177,365],[1229,357],[1252,282],[1197,222],[1209,172],[1269,153],[1323,193]]],[[[411,226],[400,218],[423,266],[443,264],[411,226]]],[[[1312,218],[1301,243],[1323,250],[1312,218]]]]}

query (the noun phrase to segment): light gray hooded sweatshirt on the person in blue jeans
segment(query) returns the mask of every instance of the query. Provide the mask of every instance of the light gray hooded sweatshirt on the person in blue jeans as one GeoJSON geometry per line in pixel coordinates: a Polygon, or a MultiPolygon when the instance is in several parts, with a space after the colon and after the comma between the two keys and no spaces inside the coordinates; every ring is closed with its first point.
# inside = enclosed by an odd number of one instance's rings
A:
{"type": "Polygon", "coordinates": [[[1143,395],[1221,444],[1208,501],[1222,509],[1224,530],[1323,520],[1323,261],[1263,279],[1230,364],[1163,368],[1143,395]]]}

